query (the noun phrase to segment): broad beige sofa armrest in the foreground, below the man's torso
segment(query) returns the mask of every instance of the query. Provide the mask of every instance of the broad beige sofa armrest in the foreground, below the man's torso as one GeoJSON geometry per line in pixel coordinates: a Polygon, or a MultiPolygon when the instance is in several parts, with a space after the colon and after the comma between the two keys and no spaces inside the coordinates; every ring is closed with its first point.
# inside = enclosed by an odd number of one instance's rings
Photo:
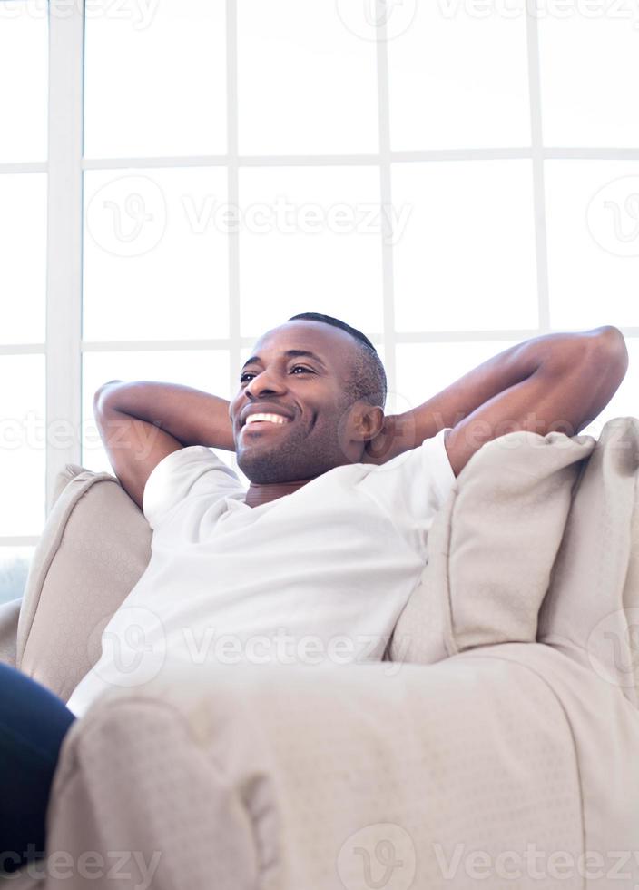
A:
{"type": "Polygon", "coordinates": [[[125,838],[140,857],[127,870],[143,881],[154,863],[154,890],[175,875],[191,890],[363,888],[388,851],[405,869],[392,886],[459,886],[459,843],[583,846],[563,708],[525,666],[472,653],[428,667],[182,663],[110,689],[65,737],[47,833],[75,861],[125,838]]]}

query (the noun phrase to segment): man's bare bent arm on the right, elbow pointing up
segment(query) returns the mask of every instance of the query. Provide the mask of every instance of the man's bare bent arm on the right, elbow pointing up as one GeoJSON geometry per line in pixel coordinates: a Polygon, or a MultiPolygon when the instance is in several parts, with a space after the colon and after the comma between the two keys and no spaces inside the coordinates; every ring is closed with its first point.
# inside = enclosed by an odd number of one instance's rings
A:
{"type": "Polygon", "coordinates": [[[388,417],[365,462],[391,460],[452,427],[446,449],[457,476],[485,442],[506,432],[573,436],[604,410],[627,367],[624,336],[611,325],[519,343],[418,408],[388,417]]]}

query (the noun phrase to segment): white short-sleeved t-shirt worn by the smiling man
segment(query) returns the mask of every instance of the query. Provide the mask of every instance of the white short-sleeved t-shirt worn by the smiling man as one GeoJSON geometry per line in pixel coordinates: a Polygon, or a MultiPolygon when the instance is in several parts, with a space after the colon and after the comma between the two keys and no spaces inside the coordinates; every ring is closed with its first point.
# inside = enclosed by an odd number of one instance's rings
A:
{"type": "Polygon", "coordinates": [[[149,564],[68,707],[81,716],[103,690],[143,686],[174,658],[208,671],[381,659],[455,482],[445,433],[259,507],[213,450],[172,451],[144,488],[149,564]]]}

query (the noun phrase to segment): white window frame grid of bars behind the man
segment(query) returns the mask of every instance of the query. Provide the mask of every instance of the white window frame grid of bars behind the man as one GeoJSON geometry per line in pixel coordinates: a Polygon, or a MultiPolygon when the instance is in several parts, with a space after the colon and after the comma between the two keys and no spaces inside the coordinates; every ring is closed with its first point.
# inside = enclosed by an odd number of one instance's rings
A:
{"type": "MultiPolygon", "coordinates": [[[[2,2],[2,0],[0,0],[2,2]]],[[[226,0],[227,12],[227,91],[228,153],[224,155],[154,158],[83,158],[84,118],[84,0],[49,0],[49,155],[46,163],[0,164],[2,173],[48,174],[48,242],[46,276],[46,342],[0,345],[0,354],[44,354],[46,356],[46,422],[71,421],[74,431],[66,448],[47,444],[46,516],[53,505],[57,474],[67,463],[81,464],[82,356],[89,351],[203,350],[229,352],[231,381],[240,367],[241,349],[252,339],[240,335],[239,233],[231,232],[229,252],[228,338],[187,341],[82,340],[83,264],[83,174],[84,170],[115,170],[148,167],[224,166],[228,197],[239,204],[239,169],[249,166],[343,165],[377,166],[380,194],[384,205],[392,203],[391,164],[397,162],[437,162],[524,159],[532,164],[536,232],[536,272],[539,326],[526,330],[425,331],[399,333],[394,324],[393,250],[388,214],[384,214],[382,239],[383,330],[369,334],[371,341],[385,348],[384,364],[388,386],[395,389],[396,345],[456,341],[523,341],[550,331],[548,298],[548,257],[546,245],[546,200],[544,162],[546,160],[639,160],[639,149],[547,148],[542,141],[541,85],[536,15],[526,5],[528,89],[531,109],[531,144],[522,148],[461,149],[393,152],[390,149],[388,102],[388,52],[385,25],[379,28],[377,44],[379,145],[378,154],[240,156],[237,114],[237,9],[236,0],[226,0]]],[[[626,337],[639,336],[639,327],[624,328],[626,337]]],[[[451,381],[452,382],[452,381],[451,381]]],[[[0,546],[33,545],[38,536],[0,537],[0,546]]]]}

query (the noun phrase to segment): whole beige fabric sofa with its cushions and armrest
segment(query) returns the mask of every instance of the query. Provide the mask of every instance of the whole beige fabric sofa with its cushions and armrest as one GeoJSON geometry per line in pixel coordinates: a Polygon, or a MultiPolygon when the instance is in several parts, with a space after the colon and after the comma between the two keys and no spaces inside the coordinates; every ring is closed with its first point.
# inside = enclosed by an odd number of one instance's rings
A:
{"type": "MultiPolygon", "coordinates": [[[[630,888],[639,883],[639,420],[477,452],[389,658],[188,665],[64,739],[47,859],[15,888],[630,888]]],[[[150,555],[69,465],[0,658],[67,698],[150,555]]]]}

